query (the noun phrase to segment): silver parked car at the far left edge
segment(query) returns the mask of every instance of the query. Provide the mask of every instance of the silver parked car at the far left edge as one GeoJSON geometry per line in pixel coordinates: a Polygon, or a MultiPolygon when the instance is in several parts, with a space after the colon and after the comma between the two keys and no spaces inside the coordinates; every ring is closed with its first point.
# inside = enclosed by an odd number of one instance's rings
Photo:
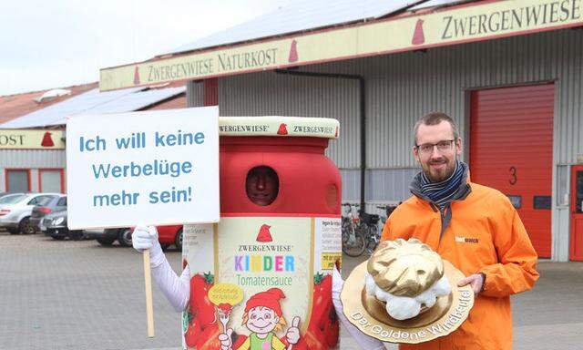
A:
{"type": "Polygon", "coordinates": [[[35,205],[45,205],[60,193],[27,193],[15,196],[6,196],[4,202],[0,203],[0,227],[15,234],[34,233],[35,226],[30,221],[30,215],[35,205]]]}

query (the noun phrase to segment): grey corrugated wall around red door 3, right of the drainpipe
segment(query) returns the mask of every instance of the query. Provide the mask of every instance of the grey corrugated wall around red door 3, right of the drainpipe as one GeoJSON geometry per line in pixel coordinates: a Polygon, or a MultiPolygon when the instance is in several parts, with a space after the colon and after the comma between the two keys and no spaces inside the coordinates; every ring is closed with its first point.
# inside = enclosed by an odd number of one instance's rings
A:
{"type": "Polygon", "coordinates": [[[474,88],[557,80],[557,163],[583,153],[583,30],[447,46],[308,67],[314,71],[362,74],[367,79],[369,168],[414,166],[416,118],[442,110],[465,133],[466,92],[474,88]]]}

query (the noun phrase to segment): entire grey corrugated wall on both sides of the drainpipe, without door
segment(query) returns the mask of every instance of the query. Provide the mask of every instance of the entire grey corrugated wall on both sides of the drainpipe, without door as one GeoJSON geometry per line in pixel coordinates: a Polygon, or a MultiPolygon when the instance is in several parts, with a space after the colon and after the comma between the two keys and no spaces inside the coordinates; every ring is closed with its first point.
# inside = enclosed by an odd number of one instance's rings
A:
{"type": "MultiPolygon", "coordinates": [[[[459,123],[467,144],[469,91],[554,81],[553,259],[568,260],[568,205],[557,198],[557,189],[568,188],[569,179],[557,178],[557,169],[576,163],[578,155],[583,155],[583,30],[358,58],[302,70],[366,79],[366,198],[370,203],[408,196],[407,179],[417,171],[411,153],[411,129],[417,118],[432,110],[444,111],[459,123]]],[[[191,95],[200,94],[192,91],[191,95]]],[[[350,80],[262,72],[223,77],[219,83],[223,116],[339,118],[341,139],[336,145],[332,142],[330,154],[341,168],[344,201],[359,197],[358,98],[357,82],[350,80]]]]}

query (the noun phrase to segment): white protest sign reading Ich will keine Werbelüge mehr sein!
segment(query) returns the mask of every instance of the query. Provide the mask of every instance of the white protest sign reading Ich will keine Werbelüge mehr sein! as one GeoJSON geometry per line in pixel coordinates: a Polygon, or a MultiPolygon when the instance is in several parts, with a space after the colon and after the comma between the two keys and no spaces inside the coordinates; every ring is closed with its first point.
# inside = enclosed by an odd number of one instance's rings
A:
{"type": "Polygon", "coordinates": [[[219,108],[69,118],[66,185],[71,230],[219,221],[219,108]]]}

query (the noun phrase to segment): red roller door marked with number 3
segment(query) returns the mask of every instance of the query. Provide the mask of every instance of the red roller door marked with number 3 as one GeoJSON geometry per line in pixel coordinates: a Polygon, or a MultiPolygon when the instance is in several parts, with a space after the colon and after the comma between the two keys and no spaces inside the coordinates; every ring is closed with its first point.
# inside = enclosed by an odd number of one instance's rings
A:
{"type": "Polygon", "coordinates": [[[472,180],[518,208],[540,257],[550,257],[554,85],[473,91],[472,180]]]}

